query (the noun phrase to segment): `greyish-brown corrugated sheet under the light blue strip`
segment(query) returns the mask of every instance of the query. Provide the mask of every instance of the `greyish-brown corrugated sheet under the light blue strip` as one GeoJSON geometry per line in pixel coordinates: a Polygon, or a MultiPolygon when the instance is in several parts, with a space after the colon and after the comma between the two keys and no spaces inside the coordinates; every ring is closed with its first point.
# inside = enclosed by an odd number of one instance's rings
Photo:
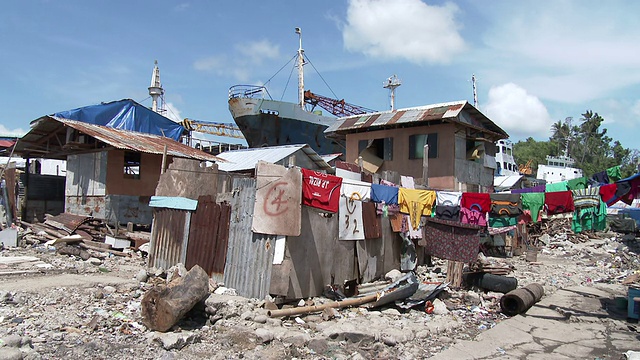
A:
{"type": "Polygon", "coordinates": [[[149,267],[169,269],[185,263],[191,212],[167,208],[154,209],[149,267]]]}

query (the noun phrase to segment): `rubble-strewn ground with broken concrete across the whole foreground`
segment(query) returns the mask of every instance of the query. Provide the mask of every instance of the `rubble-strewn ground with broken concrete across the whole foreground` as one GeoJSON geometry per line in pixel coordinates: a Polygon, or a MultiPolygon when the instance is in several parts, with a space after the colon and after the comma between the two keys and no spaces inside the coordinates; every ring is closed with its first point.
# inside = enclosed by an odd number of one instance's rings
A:
{"type": "MultiPolygon", "coordinates": [[[[415,303],[407,298],[372,309],[325,307],[279,318],[267,312],[296,309],[299,299],[292,304],[271,297],[248,299],[207,279],[203,300],[171,331],[160,333],[144,325],[144,294],[166,286],[167,278],[184,278],[182,267],[148,269],[142,251],[119,256],[113,249],[83,248],[79,244],[85,239],[60,245],[88,252],[87,261],[60,255],[62,246],[45,245],[55,240],[52,231],[63,231],[54,229],[19,232],[22,246],[0,252],[0,359],[637,356],[640,328],[627,322],[628,301],[623,301],[627,286],[640,286],[635,237],[610,232],[575,236],[565,225],[541,226],[533,234],[537,261],[527,262],[525,255],[480,256],[465,268],[515,278],[518,287],[540,284],[545,295],[527,316],[505,315],[500,292],[448,286],[447,262],[433,258],[433,266],[415,269],[418,289],[410,297],[415,303]]],[[[393,280],[385,277],[357,288],[375,294],[407,274],[393,271],[387,274],[393,280]]],[[[331,301],[318,297],[301,305],[331,301]]]]}

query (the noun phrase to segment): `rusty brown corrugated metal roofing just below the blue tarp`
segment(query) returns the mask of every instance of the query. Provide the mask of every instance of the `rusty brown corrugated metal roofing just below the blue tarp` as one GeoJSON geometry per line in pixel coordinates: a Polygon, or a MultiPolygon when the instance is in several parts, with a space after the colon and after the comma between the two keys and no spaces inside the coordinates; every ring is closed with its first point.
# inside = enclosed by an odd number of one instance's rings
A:
{"type": "MultiPolygon", "coordinates": [[[[55,139],[52,138],[52,134],[64,129],[65,126],[76,129],[118,149],[162,155],[164,147],[166,146],[167,155],[169,156],[203,161],[224,161],[214,155],[207,154],[201,150],[194,149],[166,137],[114,129],[102,125],[89,124],[54,116],[44,116],[38,119],[33,124],[31,130],[29,130],[29,132],[20,139],[21,141],[18,141],[16,145],[16,152],[19,154],[28,154],[31,151],[34,151],[31,149],[34,147],[34,144],[42,144],[43,141],[48,141],[48,139],[55,139]]],[[[60,140],[52,140],[53,143],[57,143],[57,141],[60,140]]],[[[47,151],[38,151],[37,156],[46,158],[46,153],[47,151]],[[42,153],[44,153],[44,155],[42,155],[42,153]]]]}

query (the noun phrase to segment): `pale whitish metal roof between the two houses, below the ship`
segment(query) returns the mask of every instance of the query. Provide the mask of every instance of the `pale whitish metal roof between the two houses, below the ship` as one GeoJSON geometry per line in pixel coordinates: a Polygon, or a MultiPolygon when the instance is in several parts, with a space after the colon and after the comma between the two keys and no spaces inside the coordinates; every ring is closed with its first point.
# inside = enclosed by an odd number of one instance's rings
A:
{"type": "Polygon", "coordinates": [[[278,163],[298,150],[302,150],[322,170],[331,171],[332,168],[323,158],[307,144],[270,146],[264,148],[241,149],[225,151],[218,154],[227,163],[218,164],[218,170],[233,172],[255,169],[259,161],[272,164],[278,163]]]}

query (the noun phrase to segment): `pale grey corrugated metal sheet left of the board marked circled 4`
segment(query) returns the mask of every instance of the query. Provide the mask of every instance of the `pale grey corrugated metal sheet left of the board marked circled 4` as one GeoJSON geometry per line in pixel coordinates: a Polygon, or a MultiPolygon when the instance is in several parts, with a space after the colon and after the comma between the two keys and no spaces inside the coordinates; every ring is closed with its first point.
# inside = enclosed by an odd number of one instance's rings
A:
{"type": "Polygon", "coordinates": [[[251,231],[256,180],[234,179],[232,192],[224,284],[241,296],[264,299],[271,283],[276,237],[251,231]]]}

